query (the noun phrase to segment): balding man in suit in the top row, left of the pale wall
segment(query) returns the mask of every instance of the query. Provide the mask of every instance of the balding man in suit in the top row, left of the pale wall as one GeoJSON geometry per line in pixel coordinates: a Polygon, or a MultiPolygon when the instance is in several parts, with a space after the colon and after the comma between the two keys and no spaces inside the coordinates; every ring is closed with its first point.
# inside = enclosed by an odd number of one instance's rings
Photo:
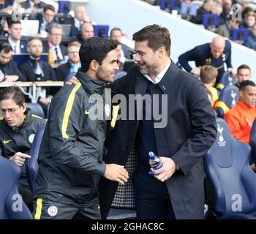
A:
{"type": "Polygon", "coordinates": [[[78,36],[80,27],[85,22],[91,22],[89,16],[86,14],[86,7],[78,5],[75,7],[75,18],[67,18],[65,23],[71,24],[70,37],[78,36]]]}

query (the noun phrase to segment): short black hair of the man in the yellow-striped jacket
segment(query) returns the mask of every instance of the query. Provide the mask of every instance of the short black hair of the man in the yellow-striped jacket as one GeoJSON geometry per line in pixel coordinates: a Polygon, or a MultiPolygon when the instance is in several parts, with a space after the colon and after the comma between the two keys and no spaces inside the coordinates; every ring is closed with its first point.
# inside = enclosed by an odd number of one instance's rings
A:
{"type": "Polygon", "coordinates": [[[91,37],[84,40],[79,50],[80,62],[82,65],[81,71],[87,72],[92,60],[96,60],[99,65],[101,65],[107,54],[111,50],[116,50],[116,48],[117,43],[111,39],[91,37]]]}

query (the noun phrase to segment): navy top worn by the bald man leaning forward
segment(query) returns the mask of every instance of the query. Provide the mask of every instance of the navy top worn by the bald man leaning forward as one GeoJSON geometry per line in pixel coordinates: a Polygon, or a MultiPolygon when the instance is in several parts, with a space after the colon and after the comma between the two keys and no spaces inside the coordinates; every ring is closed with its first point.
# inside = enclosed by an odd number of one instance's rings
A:
{"type": "Polygon", "coordinates": [[[192,50],[187,51],[186,53],[181,54],[178,57],[178,61],[182,67],[187,72],[190,72],[192,67],[189,66],[189,61],[195,61],[196,67],[203,65],[211,65],[218,69],[217,82],[219,78],[222,77],[222,74],[225,72],[224,64],[227,64],[227,67],[232,67],[231,64],[231,44],[228,40],[225,40],[225,48],[221,56],[218,59],[214,59],[211,55],[210,43],[203,45],[198,45],[192,50]]]}

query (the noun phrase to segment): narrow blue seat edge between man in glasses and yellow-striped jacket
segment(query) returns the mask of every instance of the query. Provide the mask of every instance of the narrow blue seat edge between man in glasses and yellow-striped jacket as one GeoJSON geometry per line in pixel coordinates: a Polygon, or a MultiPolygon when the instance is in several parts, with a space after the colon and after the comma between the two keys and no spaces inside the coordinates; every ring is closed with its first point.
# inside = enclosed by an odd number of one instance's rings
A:
{"type": "Polygon", "coordinates": [[[34,140],[29,153],[31,158],[26,159],[26,176],[27,176],[27,179],[29,182],[29,188],[32,194],[34,192],[34,184],[37,177],[37,170],[38,170],[37,159],[38,159],[39,149],[41,146],[42,136],[44,135],[44,132],[45,132],[45,127],[42,127],[37,131],[36,135],[34,136],[34,140]]]}

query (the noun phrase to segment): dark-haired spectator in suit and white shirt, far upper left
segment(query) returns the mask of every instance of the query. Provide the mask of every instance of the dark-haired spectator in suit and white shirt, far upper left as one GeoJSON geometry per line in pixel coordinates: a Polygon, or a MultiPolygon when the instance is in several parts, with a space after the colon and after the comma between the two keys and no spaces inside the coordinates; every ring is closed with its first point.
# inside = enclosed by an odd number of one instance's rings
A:
{"type": "Polygon", "coordinates": [[[12,54],[26,53],[26,41],[21,40],[22,26],[20,20],[10,20],[8,23],[7,39],[1,40],[1,43],[8,43],[12,46],[12,54]]]}

